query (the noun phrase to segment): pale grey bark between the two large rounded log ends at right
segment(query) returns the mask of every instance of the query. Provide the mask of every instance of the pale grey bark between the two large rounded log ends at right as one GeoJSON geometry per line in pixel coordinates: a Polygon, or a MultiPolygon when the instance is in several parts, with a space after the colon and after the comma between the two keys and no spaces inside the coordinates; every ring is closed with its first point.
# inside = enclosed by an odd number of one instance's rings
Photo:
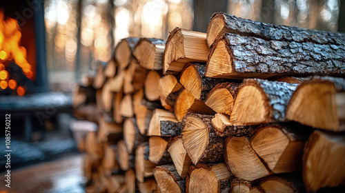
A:
{"type": "Polygon", "coordinates": [[[254,85],[262,88],[264,96],[267,97],[267,108],[271,108],[270,119],[273,121],[286,121],[285,111],[288,101],[297,88],[295,83],[284,83],[277,81],[266,81],[262,79],[246,79],[240,88],[246,85],[254,85]]]}

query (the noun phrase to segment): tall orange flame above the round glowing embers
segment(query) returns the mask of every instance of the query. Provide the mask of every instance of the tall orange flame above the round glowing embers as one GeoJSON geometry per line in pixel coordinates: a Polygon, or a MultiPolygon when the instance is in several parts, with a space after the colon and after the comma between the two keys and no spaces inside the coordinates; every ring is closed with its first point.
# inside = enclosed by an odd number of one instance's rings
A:
{"type": "MultiPolygon", "coordinates": [[[[0,62],[14,61],[21,67],[28,79],[33,79],[31,65],[26,60],[26,49],[20,45],[20,41],[21,32],[17,20],[7,18],[5,21],[3,10],[0,10],[0,62]]],[[[2,77],[1,74],[0,77],[2,77]]],[[[8,78],[7,76],[6,79],[8,78]]]]}

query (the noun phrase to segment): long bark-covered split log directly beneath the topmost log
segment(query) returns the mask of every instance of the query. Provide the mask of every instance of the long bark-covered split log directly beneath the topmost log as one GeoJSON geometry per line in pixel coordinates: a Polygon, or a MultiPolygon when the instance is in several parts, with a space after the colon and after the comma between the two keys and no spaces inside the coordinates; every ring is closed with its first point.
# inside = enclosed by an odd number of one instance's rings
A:
{"type": "Polygon", "coordinates": [[[265,40],[224,34],[210,50],[206,77],[244,79],[277,75],[344,74],[343,45],[265,40]]]}

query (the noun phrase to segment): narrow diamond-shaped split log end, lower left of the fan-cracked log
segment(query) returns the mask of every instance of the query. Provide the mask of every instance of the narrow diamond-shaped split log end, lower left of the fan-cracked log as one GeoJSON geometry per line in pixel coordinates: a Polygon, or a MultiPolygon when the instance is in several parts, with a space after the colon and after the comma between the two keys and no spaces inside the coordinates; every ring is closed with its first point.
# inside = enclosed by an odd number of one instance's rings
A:
{"type": "Polygon", "coordinates": [[[192,161],[188,156],[186,149],[184,149],[184,143],[180,136],[175,138],[168,148],[168,152],[171,156],[172,162],[175,165],[177,173],[181,178],[187,176],[188,169],[192,165],[192,161]]]}

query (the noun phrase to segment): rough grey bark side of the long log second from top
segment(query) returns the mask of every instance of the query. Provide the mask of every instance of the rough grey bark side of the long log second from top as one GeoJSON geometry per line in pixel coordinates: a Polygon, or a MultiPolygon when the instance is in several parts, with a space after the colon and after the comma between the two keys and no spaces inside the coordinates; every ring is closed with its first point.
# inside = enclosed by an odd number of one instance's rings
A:
{"type": "MultiPolygon", "coordinates": [[[[325,38],[324,43],[328,44],[319,44],[314,41],[294,41],[294,38],[292,40],[279,39],[280,36],[276,37],[276,34],[274,33],[273,37],[268,34],[272,40],[239,34],[224,34],[216,41],[223,40],[226,43],[233,73],[345,73],[344,40],[334,39],[339,43],[336,45],[326,41],[325,38]]],[[[318,38],[317,40],[322,41],[318,38]]],[[[212,56],[213,50],[215,49],[211,49],[210,56],[212,56]]]]}

